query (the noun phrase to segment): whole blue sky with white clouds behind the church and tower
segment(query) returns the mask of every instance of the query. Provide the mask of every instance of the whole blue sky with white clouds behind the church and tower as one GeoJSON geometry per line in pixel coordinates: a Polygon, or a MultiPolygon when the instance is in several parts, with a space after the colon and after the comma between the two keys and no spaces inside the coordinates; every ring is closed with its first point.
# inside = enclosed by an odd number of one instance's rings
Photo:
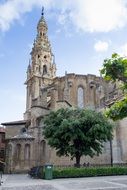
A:
{"type": "Polygon", "coordinates": [[[42,6],[57,76],[99,75],[105,58],[127,55],[127,0],[0,0],[0,123],[23,119],[42,6]]]}

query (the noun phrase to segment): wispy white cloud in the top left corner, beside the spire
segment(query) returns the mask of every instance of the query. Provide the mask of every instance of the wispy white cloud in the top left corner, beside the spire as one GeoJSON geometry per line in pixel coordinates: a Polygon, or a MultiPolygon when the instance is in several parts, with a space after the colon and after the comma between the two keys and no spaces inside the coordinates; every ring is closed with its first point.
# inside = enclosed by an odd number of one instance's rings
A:
{"type": "Polygon", "coordinates": [[[33,7],[48,7],[52,0],[8,0],[0,4],[0,29],[7,31],[16,20],[21,20],[24,13],[30,12],[33,7]]]}

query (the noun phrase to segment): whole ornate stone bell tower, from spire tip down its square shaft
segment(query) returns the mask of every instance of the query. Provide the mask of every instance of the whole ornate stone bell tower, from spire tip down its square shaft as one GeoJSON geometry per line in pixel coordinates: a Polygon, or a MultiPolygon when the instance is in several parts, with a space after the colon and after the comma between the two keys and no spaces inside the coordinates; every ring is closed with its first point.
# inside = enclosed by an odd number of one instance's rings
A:
{"type": "MultiPolygon", "coordinates": [[[[38,101],[40,90],[50,85],[56,77],[56,64],[47,31],[44,8],[42,8],[41,18],[37,25],[37,36],[30,53],[31,59],[25,82],[27,85],[26,113],[30,112],[32,105],[38,101]]],[[[25,119],[28,119],[28,114],[25,119]]]]}

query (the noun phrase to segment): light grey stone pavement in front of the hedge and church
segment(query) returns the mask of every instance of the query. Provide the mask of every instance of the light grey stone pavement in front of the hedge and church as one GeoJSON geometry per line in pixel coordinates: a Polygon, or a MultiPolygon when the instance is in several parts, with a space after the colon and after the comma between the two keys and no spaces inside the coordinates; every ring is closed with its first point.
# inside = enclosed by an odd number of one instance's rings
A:
{"type": "Polygon", "coordinates": [[[127,176],[41,180],[24,174],[3,175],[0,190],[127,190],[127,176]]]}

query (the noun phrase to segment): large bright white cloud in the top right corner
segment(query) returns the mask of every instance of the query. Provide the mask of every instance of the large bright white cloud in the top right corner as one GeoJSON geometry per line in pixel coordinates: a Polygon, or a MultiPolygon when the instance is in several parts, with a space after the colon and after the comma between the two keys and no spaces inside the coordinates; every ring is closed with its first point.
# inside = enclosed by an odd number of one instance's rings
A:
{"type": "Polygon", "coordinates": [[[72,14],[73,22],[79,29],[91,32],[108,32],[123,27],[127,23],[127,8],[123,0],[79,2],[77,14],[72,14]]]}

